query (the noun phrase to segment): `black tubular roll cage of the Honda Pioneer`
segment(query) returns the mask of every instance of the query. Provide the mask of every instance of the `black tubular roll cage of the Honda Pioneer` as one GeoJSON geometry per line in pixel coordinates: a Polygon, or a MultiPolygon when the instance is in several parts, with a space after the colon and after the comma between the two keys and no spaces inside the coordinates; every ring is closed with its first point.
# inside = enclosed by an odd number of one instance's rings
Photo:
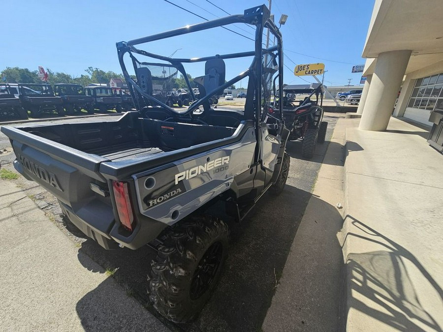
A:
{"type": "MultiPolygon", "coordinates": [[[[275,23],[270,18],[270,11],[265,5],[255,6],[250,9],[246,9],[244,11],[244,14],[238,14],[238,15],[231,15],[222,17],[216,20],[211,20],[203,23],[194,24],[191,26],[170,30],[166,32],[161,32],[157,34],[153,34],[151,36],[141,37],[133,40],[129,40],[127,42],[118,42],[116,43],[117,46],[117,53],[119,57],[119,62],[122,67],[123,75],[127,81],[127,87],[131,93],[132,100],[135,103],[135,106],[138,108],[138,110],[141,110],[141,106],[139,104],[139,100],[136,97],[135,91],[137,91],[140,95],[147,98],[148,100],[154,101],[156,104],[160,105],[161,107],[177,114],[177,115],[188,115],[190,118],[192,118],[192,112],[196,110],[200,105],[203,105],[204,103],[208,102],[209,98],[215,94],[217,91],[220,91],[222,89],[225,89],[232,84],[240,81],[241,79],[250,76],[250,82],[249,82],[249,88],[252,88],[252,90],[255,93],[248,93],[246,97],[246,103],[245,103],[245,118],[246,119],[254,119],[256,122],[257,128],[259,127],[260,123],[260,109],[264,106],[262,105],[262,87],[261,87],[261,79],[262,79],[262,58],[264,53],[270,53],[277,51],[276,56],[278,56],[279,63],[279,73],[276,77],[279,80],[279,95],[283,95],[283,40],[282,40],[282,34],[280,33],[279,29],[275,25],[275,23]],[[134,47],[134,45],[139,45],[143,43],[148,43],[160,39],[165,39],[169,37],[174,36],[180,36],[183,34],[191,33],[191,32],[197,32],[201,30],[208,30],[212,28],[217,27],[223,27],[225,25],[235,24],[235,23],[246,23],[252,26],[255,26],[255,47],[253,51],[250,52],[240,52],[240,53],[232,53],[232,54],[225,54],[225,55],[215,55],[210,57],[203,57],[203,58],[192,58],[192,59],[181,59],[181,58],[169,58],[157,54],[153,54],[150,52],[146,52],[143,50],[139,50],[134,47]],[[263,49],[262,48],[262,41],[263,41],[263,29],[268,28],[269,31],[275,36],[277,40],[277,45],[263,49]],[[250,67],[245,70],[244,72],[240,73],[233,79],[229,80],[225,84],[219,86],[218,88],[214,89],[213,91],[206,91],[206,95],[197,100],[196,102],[193,102],[189,108],[186,111],[178,112],[170,107],[168,107],[163,102],[159,101],[152,95],[149,95],[142,91],[140,87],[135,83],[135,81],[129,76],[127,72],[126,65],[124,63],[123,57],[126,53],[129,53],[129,56],[132,59],[134,69],[136,69],[136,62],[139,64],[142,64],[143,62],[139,62],[136,60],[131,53],[136,53],[140,55],[144,55],[147,57],[151,57],[153,59],[158,59],[162,61],[169,62],[170,64],[163,64],[163,63],[157,63],[157,65],[164,65],[164,66],[173,66],[178,69],[178,71],[184,76],[185,81],[188,85],[188,88],[190,90],[190,94],[193,99],[195,98],[195,95],[191,89],[190,82],[188,79],[188,75],[186,74],[185,68],[182,63],[192,63],[192,62],[202,62],[212,59],[233,59],[233,58],[243,58],[243,57],[254,57],[253,61],[250,65],[250,67]],[[255,114],[254,114],[255,113],[255,114]]],[[[274,87],[275,87],[275,79],[273,80],[274,87]]],[[[272,87],[271,87],[272,89],[272,87]]],[[[278,112],[280,120],[283,121],[283,106],[282,103],[279,105],[280,112],[278,112]]],[[[263,112],[266,112],[266,107],[263,112]]]]}

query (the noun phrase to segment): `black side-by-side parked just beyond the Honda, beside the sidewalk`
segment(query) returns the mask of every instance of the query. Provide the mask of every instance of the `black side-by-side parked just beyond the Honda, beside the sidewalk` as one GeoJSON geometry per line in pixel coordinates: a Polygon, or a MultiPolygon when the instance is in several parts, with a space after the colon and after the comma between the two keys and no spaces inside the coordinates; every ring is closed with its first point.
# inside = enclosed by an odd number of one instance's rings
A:
{"type": "MultiPolygon", "coordinates": [[[[289,140],[302,139],[302,156],[312,158],[316,143],[323,143],[328,122],[323,120],[323,86],[321,84],[285,86],[283,88],[283,118],[290,130],[289,140]],[[296,94],[306,95],[303,100],[294,100],[296,94]],[[316,97],[313,100],[314,96],[316,97]]],[[[276,97],[275,105],[280,98],[276,97]]]]}

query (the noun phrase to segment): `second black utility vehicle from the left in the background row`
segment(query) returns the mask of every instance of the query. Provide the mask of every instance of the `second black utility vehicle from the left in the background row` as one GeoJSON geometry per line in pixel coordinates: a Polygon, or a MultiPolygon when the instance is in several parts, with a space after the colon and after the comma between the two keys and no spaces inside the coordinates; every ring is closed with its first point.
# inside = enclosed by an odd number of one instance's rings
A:
{"type": "Polygon", "coordinates": [[[64,115],[62,98],[54,95],[49,84],[19,83],[18,87],[22,107],[31,112],[32,118],[38,118],[43,113],[64,115]]]}

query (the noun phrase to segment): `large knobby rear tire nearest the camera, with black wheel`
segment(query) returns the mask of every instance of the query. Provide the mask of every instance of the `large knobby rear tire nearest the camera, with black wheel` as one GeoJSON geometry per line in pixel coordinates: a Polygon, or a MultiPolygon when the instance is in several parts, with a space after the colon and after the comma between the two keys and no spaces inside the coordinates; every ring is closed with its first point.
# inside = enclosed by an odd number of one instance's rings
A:
{"type": "Polygon", "coordinates": [[[227,256],[229,229],[201,215],[168,228],[151,263],[148,293],[157,311],[174,323],[192,320],[209,300],[227,256]]]}

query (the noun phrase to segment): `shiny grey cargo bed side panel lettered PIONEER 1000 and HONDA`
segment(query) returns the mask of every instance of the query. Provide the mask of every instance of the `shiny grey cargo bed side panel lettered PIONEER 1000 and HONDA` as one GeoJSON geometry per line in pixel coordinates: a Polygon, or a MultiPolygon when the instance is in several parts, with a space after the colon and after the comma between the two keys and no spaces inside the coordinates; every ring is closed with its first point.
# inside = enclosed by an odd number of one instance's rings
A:
{"type": "Polygon", "coordinates": [[[168,225],[186,217],[251,167],[255,145],[250,127],[238,143],[135,174],[140,213],[168,225]]]}

